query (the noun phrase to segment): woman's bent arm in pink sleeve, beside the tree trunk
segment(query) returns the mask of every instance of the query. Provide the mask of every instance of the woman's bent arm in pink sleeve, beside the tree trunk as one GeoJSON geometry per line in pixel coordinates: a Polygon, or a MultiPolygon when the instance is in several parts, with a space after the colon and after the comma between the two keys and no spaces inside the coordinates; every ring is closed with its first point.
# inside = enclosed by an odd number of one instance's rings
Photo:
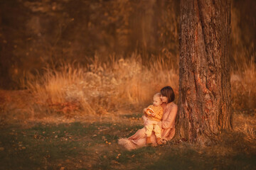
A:
{"type": "Polygon", "coordinates": [[[170,109],[166,109],[162,120],[162,128],[173,128],[175,125],[175,119],[178,111],[178,106],[174,105],[170,109]]]}

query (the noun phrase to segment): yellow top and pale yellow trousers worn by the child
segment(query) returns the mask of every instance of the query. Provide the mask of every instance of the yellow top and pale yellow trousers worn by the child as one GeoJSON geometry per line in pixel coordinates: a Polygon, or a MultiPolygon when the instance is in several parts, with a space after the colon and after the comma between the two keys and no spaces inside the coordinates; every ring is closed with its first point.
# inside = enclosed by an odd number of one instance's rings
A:
{"type": "Polygon", "coordinates": [[[155,132],[155,135],[157,138],[161,138],[161,127],[159,127],[158,123],[161,121],[161,118],[163,117],[164,109],[162,106],[154,106],[150,105],[147,108],[151,108],[154,111],[155,116],[151,116],[146,114],[146,122],[145,128],[146,128],[146,137],[150,137],[152,134],[152,131],[155,132]]]}

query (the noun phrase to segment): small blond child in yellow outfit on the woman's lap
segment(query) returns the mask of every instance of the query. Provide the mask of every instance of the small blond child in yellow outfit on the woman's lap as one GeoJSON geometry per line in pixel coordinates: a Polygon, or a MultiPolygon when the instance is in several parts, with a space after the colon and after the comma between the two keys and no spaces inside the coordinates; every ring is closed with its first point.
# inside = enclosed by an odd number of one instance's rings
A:
{"type": "Polygon", "coordinates": [[[151,133],[155,132],[156,142],[158,145],[163,145],[161,142],[161,127],[159,127],[159,122],[163,116],[164,109],[161,107],[161,94],[157,93],[153,98],[153,105],[144,108],[144,115],[146,115],[146,119],[144,119],[144,126],[146,128],[146,145],[151,145],[151,133]]]}

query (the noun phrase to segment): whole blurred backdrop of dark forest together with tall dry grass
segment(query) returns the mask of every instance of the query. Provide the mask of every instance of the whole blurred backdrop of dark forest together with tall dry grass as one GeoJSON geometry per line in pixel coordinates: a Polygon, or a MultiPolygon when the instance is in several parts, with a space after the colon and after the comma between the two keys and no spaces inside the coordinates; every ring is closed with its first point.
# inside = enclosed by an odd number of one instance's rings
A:
{"type": "MultiPolygon", "coordinates": [[[[234,111],[256,109],[255,11],[232,0],[234,111]]],[[[0,88],[30,93],[0,91],[1,119],[142,111],[166,85],[177,99],[178,34],[178,0],[1,0],[0,88]]]]}

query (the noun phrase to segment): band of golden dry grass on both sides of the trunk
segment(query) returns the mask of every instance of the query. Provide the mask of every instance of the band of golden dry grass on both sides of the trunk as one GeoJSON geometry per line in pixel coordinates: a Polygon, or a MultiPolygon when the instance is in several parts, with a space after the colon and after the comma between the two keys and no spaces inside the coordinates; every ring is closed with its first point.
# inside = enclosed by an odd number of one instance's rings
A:
{"type": "MultiPolygon", "coordinates": [[[[89,115],[140,112],[151,103],[152,96],[163,86],[174,88],[178,98],[178,72],[159,57],[144,66],[139,55],[102,63],[95,56],[92,64],[60,64],[47,67],[37,75],[26,74],[21,84],[26,90],[1,93],[1,121],[40,120],[49,116],[65,118],[89,115]],[[24,100],[26,98],[26,100],[24,100]],[[4,104],[3,104],[4,103],[4,104]]],[[[170,63],[171,65],[171,63],[170,63]]],[[[231,101],[234,111],[256,111],[255,62],[231,73],[231,101]]]]}

